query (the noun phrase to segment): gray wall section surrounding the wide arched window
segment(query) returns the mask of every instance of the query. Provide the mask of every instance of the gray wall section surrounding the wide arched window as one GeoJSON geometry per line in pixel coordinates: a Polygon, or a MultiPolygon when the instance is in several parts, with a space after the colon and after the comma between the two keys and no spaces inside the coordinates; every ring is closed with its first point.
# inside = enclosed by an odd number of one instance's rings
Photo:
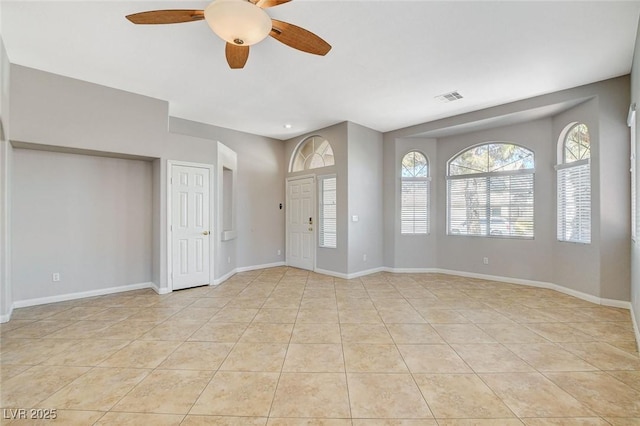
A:
{"type": "MultiPolygon", "coordinates": [[[[552,261],[550,244],[555,237],[553,209],[552,151],[549,141],[551,121],[536,120],[514,126],[451,136],[438,140],[436,205],[441,214],[436,222],[438,266],[453,271],[553,282],[548,265],[552,261]],[[535,154],[535,239],[482,238],[446,235],[447,161],[472,145],[485,142],[513,142],[535,154]],[[483,257],[489,264],[483,264],[483,257]]],[[[434,194],[434,195],[436,195],[434,194]]]]}

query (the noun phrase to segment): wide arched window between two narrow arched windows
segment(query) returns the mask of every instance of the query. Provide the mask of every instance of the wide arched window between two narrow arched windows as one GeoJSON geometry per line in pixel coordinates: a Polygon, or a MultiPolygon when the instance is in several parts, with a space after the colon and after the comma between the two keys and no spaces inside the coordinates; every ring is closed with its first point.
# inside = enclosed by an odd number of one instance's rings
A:
{"type": "Polygon", "coordinates": [[[447,170],[447,233],[533,238],[534,154],[492,142],[452,157],[447,170]]]}

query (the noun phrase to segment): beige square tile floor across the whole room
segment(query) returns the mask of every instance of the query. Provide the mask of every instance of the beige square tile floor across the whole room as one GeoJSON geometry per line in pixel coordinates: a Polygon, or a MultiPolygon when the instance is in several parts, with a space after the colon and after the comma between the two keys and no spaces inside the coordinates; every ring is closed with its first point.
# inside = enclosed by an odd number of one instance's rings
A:
{"type": "Polygon", "coordinates": [[[640,425],[629,312],[551,290],[281,267],[0,328],[2,424],[640,425]]]}

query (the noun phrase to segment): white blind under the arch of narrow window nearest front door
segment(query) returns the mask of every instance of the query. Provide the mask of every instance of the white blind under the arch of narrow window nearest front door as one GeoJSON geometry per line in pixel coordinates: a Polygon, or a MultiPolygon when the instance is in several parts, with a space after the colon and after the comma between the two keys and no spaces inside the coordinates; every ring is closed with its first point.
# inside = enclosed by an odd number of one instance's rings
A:
{"type": "Polygon", "coordinates": [[[402,179],[400,232],[402,234],[429,233],[428,179],[402,179]]]}

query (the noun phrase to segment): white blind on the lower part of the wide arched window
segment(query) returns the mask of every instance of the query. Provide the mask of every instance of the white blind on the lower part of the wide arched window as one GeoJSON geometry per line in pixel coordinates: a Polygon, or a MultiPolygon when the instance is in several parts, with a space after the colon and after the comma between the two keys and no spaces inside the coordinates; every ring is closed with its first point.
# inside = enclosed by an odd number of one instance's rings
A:
{"type": "Polygon", "coordinates": [[[447,178],[448,233],[533,238],[533,169],[447,178]]]}

